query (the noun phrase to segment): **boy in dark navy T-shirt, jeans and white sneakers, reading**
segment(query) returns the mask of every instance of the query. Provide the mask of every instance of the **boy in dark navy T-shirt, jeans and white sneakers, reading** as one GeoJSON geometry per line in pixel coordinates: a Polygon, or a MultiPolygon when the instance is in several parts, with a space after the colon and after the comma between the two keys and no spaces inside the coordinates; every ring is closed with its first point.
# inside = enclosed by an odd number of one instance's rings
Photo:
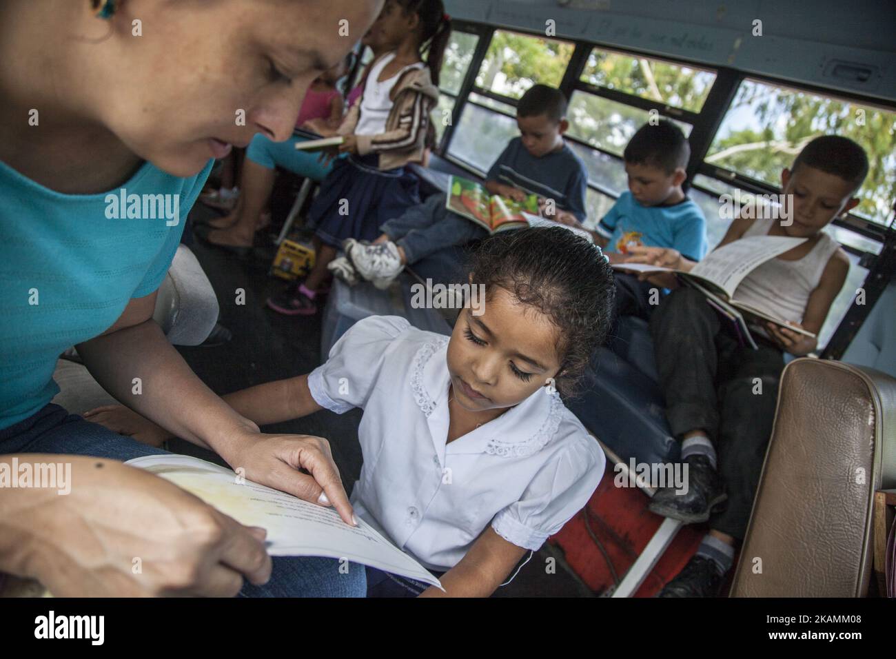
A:
{"type": "MultiPolygon", "coordinates": [[[[521,135],[507,144],[488,170],[483,187],[489,195],[517,203],[534,195],[553,202],[548,211],[556,210],[558,221],[585,220],[588,173],[582,159],[564,143],[569,127],[565,116],[566,98],[560,90],[536,84],[522,95],[516,108],[521,135]]],[[[346,256],[331,265],[333,274],[349,284],[363,279],[385,288],[406,264],[488,235],[485,228],[450,212],[449,201],[446,195],[432,195],[384,222],[373,245],[347,240],[346,256]]]]}

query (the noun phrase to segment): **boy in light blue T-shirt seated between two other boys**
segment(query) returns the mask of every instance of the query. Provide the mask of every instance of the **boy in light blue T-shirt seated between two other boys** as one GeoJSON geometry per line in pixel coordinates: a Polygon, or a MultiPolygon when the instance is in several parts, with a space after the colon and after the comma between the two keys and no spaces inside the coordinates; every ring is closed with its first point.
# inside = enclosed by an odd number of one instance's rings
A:
{"type": "MultiPolygon", "coordinates": [[[[591,231],[610,259],[625,261],[629,247],[671,247],[699,261],[706,254],[706,218],[687,198],[682,184],[691,147],[681,130],[668,121],[644,124],[625,146],[628,190],[591,231]]],[[[617,316],[649,318],[656,306],[650,290],[631,274],[616,273],[617,316]]],[[[654,296],[655,298],[655,296],[654,296]]]]}

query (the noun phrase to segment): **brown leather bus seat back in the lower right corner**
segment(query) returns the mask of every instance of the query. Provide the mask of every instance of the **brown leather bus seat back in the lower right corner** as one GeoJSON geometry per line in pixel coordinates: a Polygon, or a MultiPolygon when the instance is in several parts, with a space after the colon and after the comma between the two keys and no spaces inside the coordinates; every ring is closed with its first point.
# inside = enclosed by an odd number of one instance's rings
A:
{"type": "Polygon", "coordinates": [[[896,379],[789,363],[731,596],[865,596],[874,490],[893,487],[896,379]]]}

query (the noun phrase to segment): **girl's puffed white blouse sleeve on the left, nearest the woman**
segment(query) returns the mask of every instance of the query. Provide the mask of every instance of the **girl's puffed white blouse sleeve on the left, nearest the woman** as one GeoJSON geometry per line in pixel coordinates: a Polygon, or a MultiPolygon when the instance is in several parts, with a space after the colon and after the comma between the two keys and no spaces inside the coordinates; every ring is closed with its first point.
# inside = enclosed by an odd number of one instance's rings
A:
{"type": "Polygon", "coordinates": [[[363,408],[390,345],[409,327],[399,316],[368,316],[352,325],[330,349],[326,363],[308,376],[308,388],[317,404],[337,414],[363,408]]]}

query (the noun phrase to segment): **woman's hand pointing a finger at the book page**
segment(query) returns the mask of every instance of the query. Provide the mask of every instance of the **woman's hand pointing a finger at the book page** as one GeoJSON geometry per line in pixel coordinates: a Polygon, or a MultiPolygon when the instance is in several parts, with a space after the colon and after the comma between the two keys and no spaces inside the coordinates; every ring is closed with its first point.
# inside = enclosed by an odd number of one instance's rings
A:
{"type": "Polygon", "coordinates": [[[222,457],[234,471],[245,470],[242,474],[246,480],[288,492],[309,503],[335,507],[346,524],[356,525],[326,439],[245,431],[228,446],[228,455],[222,457]]]}

